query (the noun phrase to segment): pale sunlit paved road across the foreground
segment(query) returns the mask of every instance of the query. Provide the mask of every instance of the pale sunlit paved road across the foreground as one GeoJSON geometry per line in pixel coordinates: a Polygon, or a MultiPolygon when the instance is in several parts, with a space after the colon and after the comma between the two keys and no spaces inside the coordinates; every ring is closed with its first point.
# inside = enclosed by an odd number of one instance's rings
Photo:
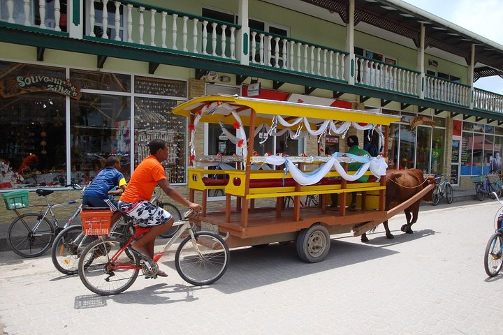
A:
{"type": "Polygon", "coordinates": [[[503,274],[487,278],[483,251],[495,202],[421,207],[363,244],[333,237],[328,258],[298,260],[295,244],[231,251],[223,278],[194,287],[169,277],[113,297],[60,276],[48,256],[0,253],[0,322],[15,334],[502,334],[503,274]]]}

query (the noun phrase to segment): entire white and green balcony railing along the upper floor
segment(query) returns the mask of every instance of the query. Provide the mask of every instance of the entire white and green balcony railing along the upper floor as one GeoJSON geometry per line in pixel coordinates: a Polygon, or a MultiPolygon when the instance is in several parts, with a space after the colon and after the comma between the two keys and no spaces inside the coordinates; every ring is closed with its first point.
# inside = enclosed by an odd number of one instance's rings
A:
{"type": "MultiPolygon", "coordinates": [[[[242,27],[237,24],[136,1],[80,1],[87,8],[71,8],[78,1],[68,1],[68,8],[62,10],[61,3],[66,2],[4,0],[0,25],[100,45],[154,50],[216,60],[221,64],[238,64],[249,69],[265,68],[275,73],[337,82],[347,85],[348,89],[360,87],[503,114],[503,96],[499,94],[359,55],[353,60],[355,80],[350,84],[352,60],[349,52],[330,46],[254,29],[242,34],[242,27]],[[85,24],[80,22],[80,17],[73,17],[74,13],[82,13],[85,24]],[[247,36],[247,40],[240,36],[247,36]],[[240,53],[241,49],[246,52],[240,53]]],[[[240,75],[238,71],[235,73],[240,75]]]]}

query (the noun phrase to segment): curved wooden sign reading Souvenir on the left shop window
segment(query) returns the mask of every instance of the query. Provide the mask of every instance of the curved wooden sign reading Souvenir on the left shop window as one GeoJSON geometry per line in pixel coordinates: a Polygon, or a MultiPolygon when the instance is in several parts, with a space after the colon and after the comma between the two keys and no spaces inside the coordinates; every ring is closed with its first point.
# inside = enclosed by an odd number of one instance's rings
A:
{"type": "Polygon", "coordinates": [[[31,92],[54,92],[80,100],[80,87],[69,80],[63,80],[48,75],[18,75],[0,80],[0,96],[11,98],[31,92]]]}

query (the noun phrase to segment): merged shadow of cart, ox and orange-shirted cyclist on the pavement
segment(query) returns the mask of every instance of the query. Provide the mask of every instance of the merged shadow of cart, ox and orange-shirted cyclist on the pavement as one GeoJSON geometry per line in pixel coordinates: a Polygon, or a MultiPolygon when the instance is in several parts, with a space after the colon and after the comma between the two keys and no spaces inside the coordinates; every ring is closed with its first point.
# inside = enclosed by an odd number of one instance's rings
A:
{"type": "MultiPolygon", "coordinates": [[[[400,231],[398,231],[400,232],[400,231]]],[[[231,250],[231,261],[226,274],[216,283],[209,286],[192,286],[190,284],[168,285],[154,284],[140,290],[127,290],[126,292],[109,297],[98,295],[84,295],[75,297],[75,308],[96,308],[106,306],[108,299],[113,301],[130,304],[171,304],[174,302],[190,302],[197,300],[194,292],[203,289],[218,290],[226,294],[242,292],[253,288],[260,288],[265,285],[289,281],[293,278],[309,276],[310,274],[328,271],[340,267],[347,267],[359,262],[367,262],[383,258],[398,253],[390,250],[386,246],[393,246],[414,239],[428,237],[435,234],[433,230],[417,230],[414,234],[395,235],[395,239],[387,239],[384,232],[374,232],[381,234],[374,237],[367,244],[362,244],[356,240],[357,237],[337,237],[330,242],[330,252],[325,260],[318,263],[302,262],[298,258],[296,244],[270,244],[265,248],[237,248],[231,250]],[[346,241],[345,239],[353,239],[346,241]],[[170,297],[180,297],[180,292],[184,292],[183,298],[171,299],[170,297]],[[177,293],[178,295],[175,295],[177,293]]],[[[175,271],[173,261],[162,262],[163,265],[170,267],[175,271]]],[[[138,281],[143,278],[138,278],[138,281]]],[[[182,281],[177,278],[177,281],[182,281]]]]}

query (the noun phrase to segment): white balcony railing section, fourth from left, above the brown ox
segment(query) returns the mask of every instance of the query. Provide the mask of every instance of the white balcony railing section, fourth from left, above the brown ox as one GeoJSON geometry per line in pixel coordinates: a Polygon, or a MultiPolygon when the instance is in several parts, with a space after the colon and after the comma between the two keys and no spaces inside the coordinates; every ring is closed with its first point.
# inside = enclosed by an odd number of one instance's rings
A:
{"type": "Polygon", "coordinates": [[[357,84],[418,96],[421,73],[393,64],[356,56],[357,84]]]}

